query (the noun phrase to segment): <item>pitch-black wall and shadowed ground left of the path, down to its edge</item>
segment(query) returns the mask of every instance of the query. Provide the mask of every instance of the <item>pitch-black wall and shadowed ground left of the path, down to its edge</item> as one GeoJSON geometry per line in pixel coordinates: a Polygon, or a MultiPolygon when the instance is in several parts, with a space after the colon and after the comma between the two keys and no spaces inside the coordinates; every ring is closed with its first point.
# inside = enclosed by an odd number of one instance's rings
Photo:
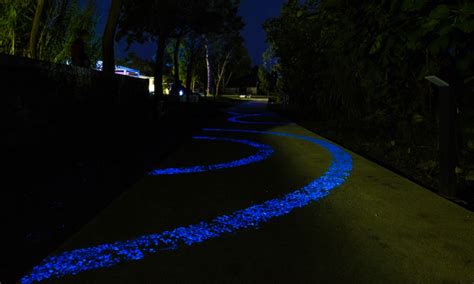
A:
{"type": "Polygon", "coordinates": [[[141,176],[151,122],[145,80],[0,55],[0,84],[0,275],[14,283],[141,176]]]}

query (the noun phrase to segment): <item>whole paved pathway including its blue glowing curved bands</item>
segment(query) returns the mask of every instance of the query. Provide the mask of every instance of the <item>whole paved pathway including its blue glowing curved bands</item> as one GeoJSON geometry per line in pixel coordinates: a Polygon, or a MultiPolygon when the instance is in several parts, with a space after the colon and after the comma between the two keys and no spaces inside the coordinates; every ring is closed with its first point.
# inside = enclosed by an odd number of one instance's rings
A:
{"type": "Polygon", "coordinates": [[[472,212],[263,101],[229,112],[24,283],[474,282],[472,212]]]}

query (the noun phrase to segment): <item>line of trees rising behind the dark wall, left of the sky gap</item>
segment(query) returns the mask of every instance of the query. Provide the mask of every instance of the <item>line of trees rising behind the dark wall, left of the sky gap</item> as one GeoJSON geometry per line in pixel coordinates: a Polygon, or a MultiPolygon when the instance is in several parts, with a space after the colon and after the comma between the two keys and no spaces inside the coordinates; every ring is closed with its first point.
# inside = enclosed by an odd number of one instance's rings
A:
{"type": "Polygon", "coordinates": [[[237,73],[245,72],[242,69],[250,61],[239,36],[243,27],[237,15],[239,5],[239,0],[112,0],[106,27],[97,38],[92,0],[85,8],[78,0],[7,0],[0,2],[0,24],[4,27],[0,30],[0,52],[64,63],[70,60],[70,45],[78,31],[85,30],[90,61],[102,57],[103,71],[113,73],[116,38],[126,38],[129,44],[156,42],[155,99],[160,101],[166,50],[173,43],[175,84],[184,77],[186,89],[191,90],[193,78],[197,78],[195,66],[203,60],[205,85],[209,93],[215,89],[218,94],[222,86],[240,76],[237,73]],[[240,57],[243,60],[239,61],[240,57]],[[230,71],[234,65],[241,71],[230,71]]]}

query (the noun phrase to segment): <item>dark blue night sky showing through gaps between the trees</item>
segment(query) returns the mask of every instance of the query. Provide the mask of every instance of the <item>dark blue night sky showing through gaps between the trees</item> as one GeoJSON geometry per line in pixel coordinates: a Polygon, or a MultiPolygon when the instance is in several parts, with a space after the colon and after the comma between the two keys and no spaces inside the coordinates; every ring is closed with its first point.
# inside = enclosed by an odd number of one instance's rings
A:
{"type": "MultiPolygon", "coordinates": [[[[261,64],[262,53],[267,48],[265,43],[265,32],[262,29],[263,22],[280,13],[280,7],[286,0],[241,0],[240,15],[244,19],[245,28],[242,35],[245,38],[247,48],[254,64],[261,64]]],[[[110,0],[97,1],[99,11],[99,25],[97,31],[102,33],[107,19],[110,0]]],[[[154,44],[134,44],[130,48],[145,59],[150,59],[155,52],[154,44]]],[[[117,48],[117,55],[124,57],[129,51],[126,51],[126,44],[122,41],[117,48]]]]}

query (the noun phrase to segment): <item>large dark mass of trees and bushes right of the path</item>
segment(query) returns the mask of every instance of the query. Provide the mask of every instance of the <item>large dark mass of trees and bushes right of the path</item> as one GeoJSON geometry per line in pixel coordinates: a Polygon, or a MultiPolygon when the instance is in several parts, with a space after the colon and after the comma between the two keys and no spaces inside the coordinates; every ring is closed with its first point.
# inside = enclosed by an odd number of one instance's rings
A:
{"type": "Polygon", "coordinates": [[[437,171],[438,147],[437,97],[425,76],[451,84],[459,118],[472,112],[461,103],[472,97],[464,86],[474,75],[472,1],[288,1],[265,30],[276,64],[260,77],[278,87],[268,91],[423,179],[437,171]]]}

